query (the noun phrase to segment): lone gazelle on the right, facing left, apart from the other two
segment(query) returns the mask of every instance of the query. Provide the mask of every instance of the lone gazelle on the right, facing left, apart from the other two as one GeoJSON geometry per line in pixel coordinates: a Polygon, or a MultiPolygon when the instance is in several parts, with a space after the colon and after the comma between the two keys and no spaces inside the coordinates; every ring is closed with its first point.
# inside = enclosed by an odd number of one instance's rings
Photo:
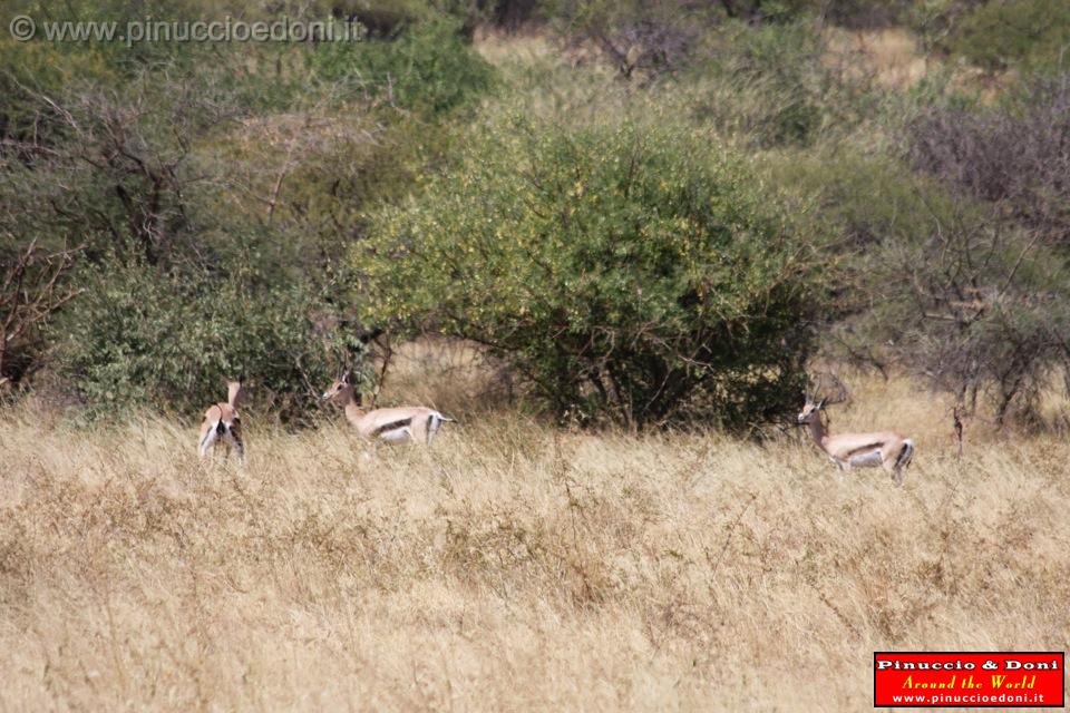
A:
{"type": "Polygon", "coordinates": [[[814,399],[806,394],[806,404],[799,412],[799,423],[809,428],[814,442],[828,453],[829,459],[840,470],[881,466],[897,486],[902,486],[906,478],[906,468],[914,458],[914,441],[892,431],[830,436],[825,432],[825,424],[821,422],[821,409],[827,401],[828,399],[821,399],[815,403],[814,399]]]}

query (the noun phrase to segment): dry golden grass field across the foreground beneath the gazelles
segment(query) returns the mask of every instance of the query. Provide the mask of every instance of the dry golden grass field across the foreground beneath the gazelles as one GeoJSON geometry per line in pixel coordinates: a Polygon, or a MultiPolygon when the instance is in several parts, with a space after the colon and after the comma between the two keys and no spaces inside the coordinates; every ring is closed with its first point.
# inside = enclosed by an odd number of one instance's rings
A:
{"type": "Polygon", "coordinates": [[[242,470],[8,412],[0,710],[868,710],[874,649],[1067,648],[1070,447],[959,462],[916,395],[834,423],[917,433],[903,489],[796,434],[249,422],[242,470]]]}

